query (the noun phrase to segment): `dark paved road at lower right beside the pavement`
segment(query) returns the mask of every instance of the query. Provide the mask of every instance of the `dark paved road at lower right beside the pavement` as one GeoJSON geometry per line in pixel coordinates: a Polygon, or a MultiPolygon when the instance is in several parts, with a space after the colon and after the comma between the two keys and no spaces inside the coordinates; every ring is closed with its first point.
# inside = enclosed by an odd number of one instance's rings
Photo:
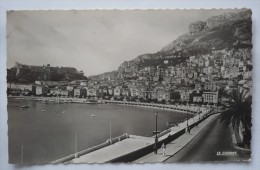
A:
{"type": "Polygon", "coordinates": [[[249,154],[233,147],[230,129],[216,119],[165,162],[241,161],[249,158],[249,154]]]}

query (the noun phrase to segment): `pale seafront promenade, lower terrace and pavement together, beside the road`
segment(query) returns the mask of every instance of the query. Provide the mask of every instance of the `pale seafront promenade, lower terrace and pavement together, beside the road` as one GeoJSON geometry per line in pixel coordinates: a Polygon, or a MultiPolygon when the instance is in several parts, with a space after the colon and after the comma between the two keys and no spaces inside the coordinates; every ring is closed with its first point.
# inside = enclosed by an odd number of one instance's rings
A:
{"type": "Polygon", "coordinates": [[[171,142],[167,144],[167,156],[165,157],[162,155],[161,149],[158,149],[157,155],[152,152],[155,140],[154,136],[142,137],[128,135],[129,137],[122,141],[119,140],[116,143],[102,147],[93,152],[75,157],[68,161],[54,161],[52,163],[162,162],[185,147],[189,141],[217,116],[217,114],[208,115],[208,113],[205,112],[190,118],[188,120],[188,124],[191,128],[190,133],[185,133],[187,121],[170,128],[167,131],[168,133],[161,132],[162,135],[158,135],[158,148],[160,148],[162,142],[169,142],[168,139],[177,135],[174,137],[176,138],[175,140],[170,140],[171,142]]]}

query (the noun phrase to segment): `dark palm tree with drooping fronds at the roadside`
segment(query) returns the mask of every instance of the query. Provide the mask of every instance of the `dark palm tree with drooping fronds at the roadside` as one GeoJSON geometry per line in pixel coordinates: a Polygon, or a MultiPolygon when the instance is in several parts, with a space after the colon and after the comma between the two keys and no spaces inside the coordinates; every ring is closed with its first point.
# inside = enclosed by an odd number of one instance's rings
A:
{"type": "Polygon", "coordinates": [[[241,132],[243,129],[243,147],[250,148],[252,127],[252,96],[249,90],[241,92],[232,91],[230,94],[230,107],[221,113],[221,121],[231,125],[234,131],[241,132]]]}

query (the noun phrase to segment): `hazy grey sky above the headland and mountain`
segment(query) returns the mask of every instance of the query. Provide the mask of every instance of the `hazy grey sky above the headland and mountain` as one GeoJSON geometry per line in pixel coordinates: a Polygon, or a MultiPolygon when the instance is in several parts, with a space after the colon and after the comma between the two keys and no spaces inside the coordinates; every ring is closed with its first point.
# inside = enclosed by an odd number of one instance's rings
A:
{"type": "Polygon", "coordinates": [[[117,70],[124,61],[160,51],[189,24],[232,9],[8,11],[7,68],[75,67],[86,76],[117,70]]]}

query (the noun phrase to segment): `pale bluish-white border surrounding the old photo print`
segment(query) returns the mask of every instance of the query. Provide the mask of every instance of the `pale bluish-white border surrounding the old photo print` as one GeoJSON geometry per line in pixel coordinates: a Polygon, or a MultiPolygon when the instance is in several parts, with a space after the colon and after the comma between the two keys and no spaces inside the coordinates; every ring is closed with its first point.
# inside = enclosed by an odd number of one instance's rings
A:
{"type": "Polygon", "coordinates": [[[257,0],[0,0],[0,169],[257,169],[260,162],[260,1],[257,0]],[[201,9],[201,8],[251,8],[253,15],[253,148],[249,164],[80,164],[80,165],[33,165],[8,164],[7,98],[6,98],[6,11],[7,10],[55,10],[55,9],[201,9]]]}

